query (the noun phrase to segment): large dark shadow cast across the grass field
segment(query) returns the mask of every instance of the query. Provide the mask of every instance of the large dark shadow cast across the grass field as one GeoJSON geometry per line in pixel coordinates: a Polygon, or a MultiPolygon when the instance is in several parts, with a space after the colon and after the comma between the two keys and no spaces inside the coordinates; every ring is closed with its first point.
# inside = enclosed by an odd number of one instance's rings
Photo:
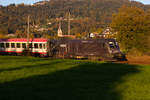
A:
{"type": "Polygon", "coordinates": [[[121,100],[115,84],[137,72],[133,65],[85,62],[72,69],[0,84],[0,100],[121,100]]]}

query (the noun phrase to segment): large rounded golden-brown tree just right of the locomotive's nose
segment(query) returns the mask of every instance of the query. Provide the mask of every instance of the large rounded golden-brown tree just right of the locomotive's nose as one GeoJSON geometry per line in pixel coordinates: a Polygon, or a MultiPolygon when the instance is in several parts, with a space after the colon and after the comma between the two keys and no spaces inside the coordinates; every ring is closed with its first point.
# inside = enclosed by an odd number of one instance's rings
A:
{"type": "Polygon", "coordinates": [[[116,38],[124,51],[148,50],[147,36],[150,33],[150,20],[143,9],[121,7],[119,12],[113,15],[111,27],[117,32],[116,38]]]}

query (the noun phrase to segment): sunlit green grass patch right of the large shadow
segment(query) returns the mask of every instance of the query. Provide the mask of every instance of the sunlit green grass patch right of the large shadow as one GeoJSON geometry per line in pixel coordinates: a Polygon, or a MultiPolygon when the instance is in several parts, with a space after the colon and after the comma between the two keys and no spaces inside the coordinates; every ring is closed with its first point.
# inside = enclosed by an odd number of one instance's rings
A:
{"type": "Polygon", "coordinates": [[[138,73],[125,75],[116,85],[121,100],[150,100],[150,66],[138,66],[138,73]]]}

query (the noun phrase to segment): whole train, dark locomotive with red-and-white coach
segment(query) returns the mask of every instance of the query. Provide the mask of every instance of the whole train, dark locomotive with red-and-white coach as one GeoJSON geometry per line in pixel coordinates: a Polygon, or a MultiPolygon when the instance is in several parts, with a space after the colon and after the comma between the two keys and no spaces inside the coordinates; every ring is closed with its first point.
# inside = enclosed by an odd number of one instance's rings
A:
{"type": "Polygon", "coordinates": [[[1,55],[23,55],[27,49],[39,57],[127,60],[115,39],[0,39],[1,55]]]}

